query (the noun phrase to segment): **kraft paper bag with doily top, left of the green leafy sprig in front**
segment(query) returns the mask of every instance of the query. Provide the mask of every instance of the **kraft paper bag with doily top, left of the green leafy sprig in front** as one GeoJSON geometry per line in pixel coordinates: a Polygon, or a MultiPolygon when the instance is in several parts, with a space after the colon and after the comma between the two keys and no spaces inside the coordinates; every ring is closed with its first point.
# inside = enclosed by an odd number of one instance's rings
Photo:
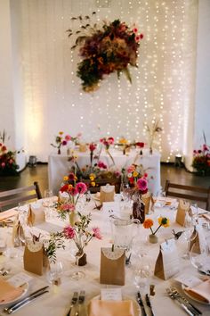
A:
{"type": "Polygon", "coordinates": [[[23,255],[23,264],[28,272],[43,275],[44,268],[49,267],[49,261],[42,242],[28,241],[23,255]]]}

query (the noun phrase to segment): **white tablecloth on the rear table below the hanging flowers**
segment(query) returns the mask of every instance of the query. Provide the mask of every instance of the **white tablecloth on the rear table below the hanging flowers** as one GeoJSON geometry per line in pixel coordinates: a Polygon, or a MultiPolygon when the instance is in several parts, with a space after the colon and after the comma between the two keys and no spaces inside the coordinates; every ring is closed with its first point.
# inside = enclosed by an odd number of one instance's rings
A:
{"type": "MultiPolygon", "coordinates": [[[[143,154],[137,156],[136,150],[132,150],[128,155],[122,153],[119,150],[111,150],[115,164],[118,170],[127,168],[133,162],[136,164],[142,164],[143,169],[148,173],[149,179],[149,191],[157,195],[160,190],[160,154],[154,151],[154,154],[149,154],[147,149],[143,150],[143,154]]],[[[90,164],[89,153],[77,153],[77,163],[80,168],[90,164]]],[[[106,163],[108,166],[112,164],[111,159],[105,152],[101,153],[101,162],[106,163]]],[[[65,175],[68,175],[69,169],[72,163],[68,162],[68,156],[64,154],[50,154],[48,157],[48,179],[49,188],[52,189],[54,195],[58,194],[61,187],[62,179],[65,175]]]]}

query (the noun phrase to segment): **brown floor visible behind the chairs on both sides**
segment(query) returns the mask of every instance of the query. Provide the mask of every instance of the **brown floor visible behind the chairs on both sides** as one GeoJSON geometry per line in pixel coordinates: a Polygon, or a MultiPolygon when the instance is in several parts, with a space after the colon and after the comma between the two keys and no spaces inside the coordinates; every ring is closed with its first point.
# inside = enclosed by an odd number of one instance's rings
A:
{"type": "MultiPolygon", "coordinates": [[[[184,168],[175,167],[174,164],[161,164],[161,185],[165,187],[166,179],[175,183],[186,184],[190,186],[210,187],[210,177],[199,177],[184,168]]],[[[0,191],[25,187],[38,181],[42,195],[44,189],[48,187],[47,164],[40,163],[36,167],[29,168],[20,172],[18,177],[1,177],[0,191]]]]}

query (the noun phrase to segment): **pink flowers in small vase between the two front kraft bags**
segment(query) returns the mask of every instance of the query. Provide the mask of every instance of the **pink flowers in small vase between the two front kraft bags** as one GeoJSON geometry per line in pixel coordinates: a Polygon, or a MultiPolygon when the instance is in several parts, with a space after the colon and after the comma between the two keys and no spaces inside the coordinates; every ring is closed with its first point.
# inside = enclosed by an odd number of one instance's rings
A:
{"type": "Polygon", "coordinates": [[[72,239],[77,245],[77,265],[85,265],[86,255],[84,253],[85,246],[93,239],[101,239],[101,231],[99,228],[94,227],[89,229],[89,224],[91,222],[91,214],[82,215],[78,212],[78,220],[75,226],[67,226],[63,229],[63,236],[66,239],[72,239]]]}

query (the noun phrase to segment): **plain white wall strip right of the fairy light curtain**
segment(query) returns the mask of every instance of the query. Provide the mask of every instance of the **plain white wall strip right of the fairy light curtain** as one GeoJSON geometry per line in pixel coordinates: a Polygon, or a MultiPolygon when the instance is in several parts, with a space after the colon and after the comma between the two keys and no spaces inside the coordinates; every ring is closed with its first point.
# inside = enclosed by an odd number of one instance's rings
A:
{"type": "Polygon", "coordinates": [[[204,144],[203,131],[210,145],[210,1],[200,0],[198,11],[197,85],[195,149],[204,144]]]}

